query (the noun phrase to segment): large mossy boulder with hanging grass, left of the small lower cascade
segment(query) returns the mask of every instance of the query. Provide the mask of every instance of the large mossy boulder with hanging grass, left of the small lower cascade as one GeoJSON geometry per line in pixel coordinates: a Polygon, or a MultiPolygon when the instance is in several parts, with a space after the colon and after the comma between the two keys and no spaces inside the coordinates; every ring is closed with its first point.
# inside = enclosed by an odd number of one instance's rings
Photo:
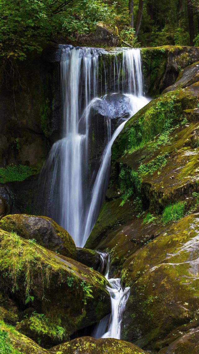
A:
{"type": "Polygon", "coordinates": [[[27,320],[18,328],[46,347],[110,313],[103,275],[4,230],[0,230],[0,284],[27,309],[27,320]]]}

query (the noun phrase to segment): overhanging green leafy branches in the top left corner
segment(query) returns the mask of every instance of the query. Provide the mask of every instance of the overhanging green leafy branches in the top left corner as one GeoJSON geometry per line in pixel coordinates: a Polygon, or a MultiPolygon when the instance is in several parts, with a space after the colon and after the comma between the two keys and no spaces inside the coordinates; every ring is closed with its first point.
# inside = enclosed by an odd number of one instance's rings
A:
{"type": "Polygon", "coordinates": [[[0,57],[24,60],[41,51],[51,36],[72,38],[93,29],[98,21],[113,22],[115,5],[100,0],[0,0],[0,57]]]}

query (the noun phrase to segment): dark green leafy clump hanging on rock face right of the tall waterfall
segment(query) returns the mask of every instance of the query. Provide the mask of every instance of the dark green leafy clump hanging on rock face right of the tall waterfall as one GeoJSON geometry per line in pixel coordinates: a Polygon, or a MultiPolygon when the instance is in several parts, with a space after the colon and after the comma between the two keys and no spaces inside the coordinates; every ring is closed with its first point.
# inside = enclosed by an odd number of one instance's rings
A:
{"type": "Polygon", "coordinates": [[[122,193],[120,206],[123,206],[126,201],[129,201],[131,195],[134,195],[135,197],[140,195],[141,179],[138,176],[138,173],[132,170],[129,166],[120,164],[120,168],[119,188],[122,193]]]}

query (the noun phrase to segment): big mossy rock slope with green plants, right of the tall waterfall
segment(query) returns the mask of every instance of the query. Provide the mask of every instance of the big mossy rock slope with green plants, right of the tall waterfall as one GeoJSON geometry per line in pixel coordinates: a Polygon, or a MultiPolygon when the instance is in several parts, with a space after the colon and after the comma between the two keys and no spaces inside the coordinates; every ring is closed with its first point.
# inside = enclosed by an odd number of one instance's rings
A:
{"type": "Polygon", "coordinates": [[[148,236],[157,232],[153,229],[148,233],[136,221],[143,211],[141,201],[144,210],[161,213],[171,201],[186,200],[198,192],[198,122],[191,115],[189,121],[182,121],[184,109],[194,109],[197,102],[198,84],[193,84],[161,95],[127,121],[112,146],[112,173],[106,199],[86,247],[108,247],[114,253],[116,247],[120,256],[116,252],[115,257],[119,257],[120,263],[128,256],[130,238],[140,237],[142,232],[148,236]],[[164,133],[167,119],[170,130],[164,133]]]}

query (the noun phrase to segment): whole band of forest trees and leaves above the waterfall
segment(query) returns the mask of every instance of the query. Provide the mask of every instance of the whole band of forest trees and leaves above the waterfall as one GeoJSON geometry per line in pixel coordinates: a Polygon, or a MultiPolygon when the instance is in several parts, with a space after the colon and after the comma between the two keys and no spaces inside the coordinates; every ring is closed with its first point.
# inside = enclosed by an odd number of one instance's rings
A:
{"type": "Polygon", "coordinates": [[[0,0],[1,58],[25,59],[52,36],[115,25],[132,46],[199,46],[199,0],[0,0]]]}

